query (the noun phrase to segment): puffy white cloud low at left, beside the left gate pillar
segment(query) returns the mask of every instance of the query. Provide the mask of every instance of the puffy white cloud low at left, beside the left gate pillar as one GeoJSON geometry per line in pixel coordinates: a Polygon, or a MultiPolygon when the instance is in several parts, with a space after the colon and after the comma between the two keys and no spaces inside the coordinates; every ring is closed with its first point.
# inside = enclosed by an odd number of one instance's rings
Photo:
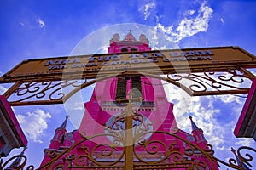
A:
{"type": "Polygon", "coordinates": [[[47,119],[51,118],[48,112],[37,109],[33,112],[26,112],[26,115],[17,115],[26,137],[34,142],[42,143],[40,137],[44,134],[44,130],[48,128],[47,119]]]}

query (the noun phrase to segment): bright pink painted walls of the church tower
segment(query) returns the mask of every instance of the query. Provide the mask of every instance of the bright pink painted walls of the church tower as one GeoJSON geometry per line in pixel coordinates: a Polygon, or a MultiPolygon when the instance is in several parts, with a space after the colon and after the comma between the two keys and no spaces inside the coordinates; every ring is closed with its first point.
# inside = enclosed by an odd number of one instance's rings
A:
{"type": "MultiPolygon", "coordinates": [[[[138,51],[151,50],[147,43],[137,42],[131,33],[129,33],[125,39],[133,40],[119,41],[119,35],[114,35],[113,39],[111,40],[112,42],[110,47],[108,48],[108,53],[119,53],[121,52],[122,48],[127,48],[129,50],[131,48],[137,48],[138,51]]],[[[146,37],[144,37],[143,41],[147,42],[146,37]]],[[[126,83],[127,92],[131,91],[131,83],[129,83],[129,81],[131,82],[131,80],[128,80],[126,83]]],[[[160,86],[162,82],[159,79],[150,77],[141,77],[141,82],[143,102],[145,103],[143,105],[134,104],[133,109],[136,110],[139,114],[143,115],[145,120],[148,120],[148,122],[152,123],[152,131],[173,133],[173,129],[177,130],[177,123],[172,112],[173,104],[167,101],[164,88],[163,86],[160,86]]],[[[119,116],[122,111],[125,111],[125,104],[118,104],[114,101],[116,84],[117,78],[115,77],[104,80],[102,82],[96,82],[96,87],[94,88],[90,101],[84,104],[85,112],[80,127],[78,131],[74,131],[72,133],[73,139],[70,141],[73,141],[73,144],[79,144],[82,139],[80,134],[84,134],[88,138],[90,138],[90,136],[108,134],[105,129],[107,126],[106,123],[111,122],[108,120],[114,120],[115,117],[113,116],[119,116]],[[111,117],[113,118],[110,119],[111,117]]],[[[196,130],[197,131],[194,132],[195,137],[189,133],[185,133],[182,130],[178,130],[176,135],[179,138],[189,140],[191,144],[200,145],[201,148],[204,148],[207,144],[207,141],[204,139],[201,129],[196,130]]],[[[164,133],[153,133],[149,135],[148,138],[149,137],[150,141],[155,140],[162,142],[162,144],[160,142],[156,142],[154,144],[159,148],[159,152],[166,150],[163,144],[166,144],[168,148],[169,144],[175,144],[173,150],[177,150],[181,153],[184,153],[184,150],[189,147],[189,145],[185,144],[182,140],[173,138],[171,135],[165,135],[164,133]]],[[[102,135],[94,139],[90,139],[89,142],[79,144],[79,147],[77,147],[72,152],[76,156],[81,156],[84,154],[85,146],[88,146],[90,152],[97,144],[112,144],[111,140],[111,138],[102,135]]],[[[64,141],[64,143],[60,144],[60,146],[70,147],[70,144],[71,142],[64,141]]],[[[135,145],[135,148],[136,152],[138,153],[146,153],[146,150],[143,149],[142,146],[135,145]]],[[[56,148],[56,150],[57,149],[58,148],[56,148]]],[[[121,150],[123,150],[123,148],[119,147],[114,151],[114,153],[119,153],[121,150]]],[[[151,147],[148,150],[154,151],[155,148],[151,147]]],[[[42,165],[49,161],[48,158],[49,156],[46,155],[42,165]]],[[[205,158],[200,155],[193,155],[190,156],[190,158],[191,160],[195,159],[195,161],[206,161],[205,158]]],[[[173,157],[171,156],[167,160],[169,160],[169,162],[173,162],[173,157]]],[[[87,159],[86,162],[89,163],[87,159]]],[[[208,161],[207,164],[210,165],[208,161]]],[[[214,165],[214,169],[218,169],[218,167],[214,165]]]]}

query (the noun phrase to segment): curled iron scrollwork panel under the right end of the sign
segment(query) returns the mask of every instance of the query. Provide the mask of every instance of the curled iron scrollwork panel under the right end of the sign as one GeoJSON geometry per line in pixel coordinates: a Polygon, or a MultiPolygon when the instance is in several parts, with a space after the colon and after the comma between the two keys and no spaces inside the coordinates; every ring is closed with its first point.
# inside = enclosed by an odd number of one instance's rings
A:
{"type": "Polygon", "coordinates": [[[190,95],[246,93],[253,77],[245,71],[205,70],[201,74],[167,74],[166,81],[182,88],[190,95]]]}

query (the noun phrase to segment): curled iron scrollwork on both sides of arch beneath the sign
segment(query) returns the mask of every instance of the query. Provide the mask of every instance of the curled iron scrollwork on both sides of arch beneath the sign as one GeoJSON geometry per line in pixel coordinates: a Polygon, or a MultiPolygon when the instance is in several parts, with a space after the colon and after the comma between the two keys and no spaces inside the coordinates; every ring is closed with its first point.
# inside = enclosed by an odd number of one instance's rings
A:
{"type": "MultiPolygon", "coordinates": [[[[131,76],[134,72],[122,72],[122,76],[131,76]]],[[[227,69],[226,71],[216,71],[205,69],[199,73],[175,74],[173,72],[165,73],[166,77],[141,72],[142,76],[158,78],[170,82],[178,88],[183,89],[189,95],[218,95],[218,94],[247,94],[250,84],[255,76],[244,68],[227,69]]],[[[4,94],[9,99],[10,105],[48,105],[62,104],[79,90],[90,86],[91,84],[102,81],[116,74],[97,77],[88,81],[86,77],[81,80],[49,80],[44,82],[26,82],[18,81],[12,88],[4,94]]]]}

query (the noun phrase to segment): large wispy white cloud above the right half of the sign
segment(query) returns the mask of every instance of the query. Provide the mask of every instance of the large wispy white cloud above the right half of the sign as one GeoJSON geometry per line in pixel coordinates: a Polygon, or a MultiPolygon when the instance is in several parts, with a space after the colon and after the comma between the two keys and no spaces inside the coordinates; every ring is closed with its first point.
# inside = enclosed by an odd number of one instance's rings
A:
{"type": "Polygon", "coordinates": [[[180,42],[185,37],[191,37],[199,32],[207,31],[208,22],[212,17],[212,8],[208,7],[206,3],[202,3],[201,7],[197,11],[197,15],[193,18],[192,15],[195,14],[195,10],[189,10],[184,15],[190,15],[184,17],[183,20],[179,22],[177,29],[174,31],[173,26],[163,26],[158,23],[154,26],[155,30],[162,31],[166,34],[166,39],[172,42],[180,42]]]}

